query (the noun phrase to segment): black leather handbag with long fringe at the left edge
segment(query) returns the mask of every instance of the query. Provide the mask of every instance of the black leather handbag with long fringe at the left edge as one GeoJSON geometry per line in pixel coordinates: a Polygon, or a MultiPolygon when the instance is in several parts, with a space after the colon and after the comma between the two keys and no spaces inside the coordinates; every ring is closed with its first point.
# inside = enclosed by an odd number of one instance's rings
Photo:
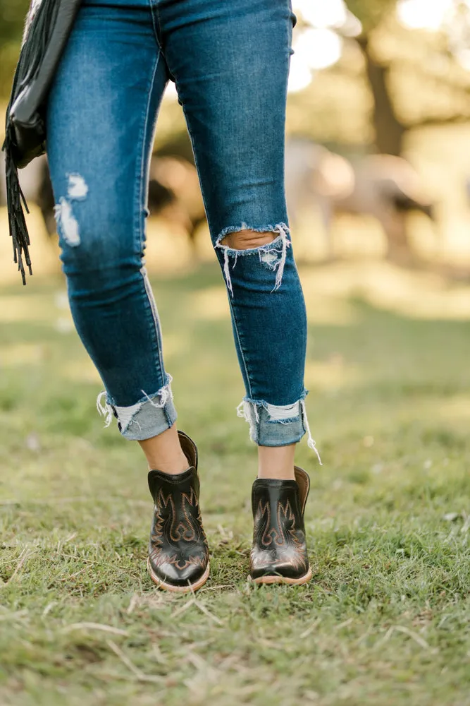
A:
{"type": "Polygon", "coordinates": [[[26,284],[25,265],[32,275],[29,213],[18,169],[46,151],[46,102],[58,61],[66,46],[81,0],[31,0],[10,102],[6,109],[5,152],[8,225],[13,261],[26,284]],[[24,258],[24,263],[23,263],[24,258]]]}

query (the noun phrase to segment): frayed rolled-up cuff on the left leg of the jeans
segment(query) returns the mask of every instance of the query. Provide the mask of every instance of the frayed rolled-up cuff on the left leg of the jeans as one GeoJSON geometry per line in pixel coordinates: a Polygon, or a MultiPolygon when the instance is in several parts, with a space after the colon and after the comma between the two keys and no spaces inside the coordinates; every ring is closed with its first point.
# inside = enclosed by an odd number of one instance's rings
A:
{"type": "Polygon", "coordinates": [[[106,393],[100,393],[97,408],[98,412],[105,417],[104,426],[109,426],[112,418],[116,417],[120,433],[130,441],[144,441],[170,429],[178,416],[173,404],[171,379],[167,374],[166,385],[163,388],[154,395],[144,393],[144,397],[130,407],[118,407],[109,400],[106,400],[106,404],[103,405],[101,398],[106,393]]]}

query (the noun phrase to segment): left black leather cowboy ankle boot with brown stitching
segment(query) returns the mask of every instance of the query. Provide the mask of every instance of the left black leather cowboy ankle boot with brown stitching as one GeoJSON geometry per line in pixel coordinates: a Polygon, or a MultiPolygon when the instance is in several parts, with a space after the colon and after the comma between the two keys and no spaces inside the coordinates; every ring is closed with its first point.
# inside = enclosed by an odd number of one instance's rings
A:
{"type": "Polygon", "coordinates": [[[187,593],[209,576],[209,547],[199,510],[197,448],[183,431],[178,436],[190,468],[177,475],[149,471],[155,507],[148,567],[160,588],[187,593]]]}

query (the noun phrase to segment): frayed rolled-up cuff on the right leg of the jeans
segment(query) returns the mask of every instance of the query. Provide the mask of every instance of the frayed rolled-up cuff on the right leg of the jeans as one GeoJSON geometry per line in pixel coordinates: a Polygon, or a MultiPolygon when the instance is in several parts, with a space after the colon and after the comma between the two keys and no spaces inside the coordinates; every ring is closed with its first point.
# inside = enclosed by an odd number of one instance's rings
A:
{"type": "Polygon", "coordinates": [[[321,465],[307,419],[306,395],[307,390],[293,405],[270,405],[264,400],[250,400],[245,397],[237,407],[237,415],[248,422],[249,436],[259,446],[288,446],[300,441],[307,433],[307,443],[316,453],[321,465]]]}

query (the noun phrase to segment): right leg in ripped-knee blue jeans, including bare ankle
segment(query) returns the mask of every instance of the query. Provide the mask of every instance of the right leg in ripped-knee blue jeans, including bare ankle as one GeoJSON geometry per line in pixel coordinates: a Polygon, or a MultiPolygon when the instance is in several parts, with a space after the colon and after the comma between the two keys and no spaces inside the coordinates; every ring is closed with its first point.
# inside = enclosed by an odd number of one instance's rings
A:
{"type": "Polygon", "coordinates": [[[292,445],[308,425],[307,320],[284,193],[290,1],[156,7],[228,288],[247,390],[239,415],[259,445],[260,475],[292,478],[292,445]]]}

